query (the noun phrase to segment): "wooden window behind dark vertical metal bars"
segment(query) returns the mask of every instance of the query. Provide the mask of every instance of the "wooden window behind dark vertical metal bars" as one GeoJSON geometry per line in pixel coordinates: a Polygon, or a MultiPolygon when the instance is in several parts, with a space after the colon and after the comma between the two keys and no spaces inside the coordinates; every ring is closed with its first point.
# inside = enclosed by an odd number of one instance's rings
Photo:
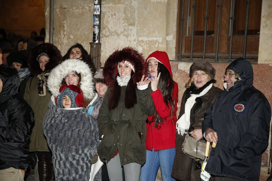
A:
{"type": "Polygon", "coordinates": [[[257,63],[261,5],[261,0],[179,0],[176,59],[244,57],[257,63]]]}

